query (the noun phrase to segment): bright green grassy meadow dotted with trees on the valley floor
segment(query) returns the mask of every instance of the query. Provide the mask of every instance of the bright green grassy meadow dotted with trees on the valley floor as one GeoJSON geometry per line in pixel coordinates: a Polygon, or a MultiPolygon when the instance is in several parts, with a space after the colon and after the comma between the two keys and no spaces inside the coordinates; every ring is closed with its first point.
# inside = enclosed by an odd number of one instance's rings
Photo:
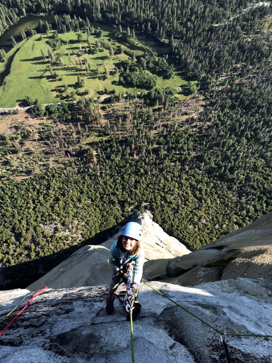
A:
{"type": "MultiPolygon", "coordinates": [[[[98,24],[94,24],[97,28],[98,24]]],[[[135,51],[135,55],[141,56],[144,52],[148,51],[150,44],[135,43],[122,45],[124,52],[122,54],[114,55],[113,58],[109,57],[109,49],[112,47],[114,50],[120,45],[115,40],[109,38],[110,27],[101,26],[103,30],[102,38],[97,38],[95,34],[91,34],[90,40],[92,44],[95,44],[98,40],[104,47],[102,52],[96,54],[84,53],[81,58],[86,58],[91,65],[91,71],[87,73],[86,66],[76,66],[76,56],[79,58],[79,46],[81,45],[83,50],[87,45],[87,33],[82,33],[83,40],[81,43],[77,41],[79,33],[70,32],[60,34],[60,37],[67,41],[72,41],[69,44],[63,44],[59,49],[54,51],[56,59],[61,55],[63,62],[63,69],[61,66],[53,66],[53,71],[59,76],[59,80],[55,81],[50,76],[48,71],[48,65],[50,64],[49,59],[45,61],[41,57],[41,50],[43,49],[47,56],[47,49],[49,45],[46,43],[48,37],[35,35],[30,39],[20,42],[15,48],[13,48],[8,54],[7,59],[10,55],[16,51],[13,62],[11,64],[11,72],[6,76],[5,81],[0,87],[0,107],[13,107],[20,103],[20,100],[25,98],[26,95],[34,99],[38,99],[41,103],[52,103],[54,101],[60,101],[61,99],[67,99],[66,93],[75,92],[75,84],[78,80],[77,75],[79,74],[81,79],[84,79],[85,86],[80,89],[83,92],[88,89],[90,93],[87,97],[97,97],[102,94],[105,89],[108,91],[103,94],[103,97],[113,93],[136,93],[141,92],[142,89],[138,88],[125,88],[118,85],[118,75],[112,75],[112,71],[116,63],[121,59],[129,58],[129,54],[135,51]],[[68,53],[71,54],[73,64],[70,64],[68,53]],[[109,77],[103,79],[104,66],[109,71],[109,77]],[[97,76],[96,70],[99,67],[100,75],[97,76]],[[64,93],[64,85],[67,86],[67,90],[64,93]]],[[[147,41],[149,42],[149,41],[147,41]]],[[[165,48],[164,48],[165,49],[165,48]]],[[[0,67],[4,70],[6,64],[1,64],[0,67]]],[[[164,87],[179,87],[186,84],[181,77],[175,76],[174,78],[167,80],[162,77],[157,77],[157,86],[164,87]]],[[[76,96],[79,98],[80,95],[76,96]]]]}

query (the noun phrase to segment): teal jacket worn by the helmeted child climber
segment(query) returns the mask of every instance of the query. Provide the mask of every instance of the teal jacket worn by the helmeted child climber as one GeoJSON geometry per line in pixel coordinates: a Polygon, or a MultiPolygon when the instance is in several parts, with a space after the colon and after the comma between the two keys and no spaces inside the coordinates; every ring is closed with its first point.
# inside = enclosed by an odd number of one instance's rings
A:
{"type": "Polygon", "coordinates": [[[115,271],[122,269],[123,265],[134,262],[132,283],[140,285],[141,278],[143,275],[143,266],[145,262],[145,251],[141,246],[141,249],[137,255],[131,255],[129,252],[124,252],[117,247],[117,239],[110,248],[109,262],[115,271]]]}

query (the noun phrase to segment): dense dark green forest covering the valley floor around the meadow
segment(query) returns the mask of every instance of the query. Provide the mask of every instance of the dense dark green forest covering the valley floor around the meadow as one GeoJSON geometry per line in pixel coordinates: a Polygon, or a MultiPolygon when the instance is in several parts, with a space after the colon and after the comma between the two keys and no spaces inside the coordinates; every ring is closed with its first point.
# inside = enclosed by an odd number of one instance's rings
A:
{"type": "MultiPolygon", "coordinates": [[[[14,17],[53,9],[50,2],[25,1],[24,10],[16,4],[9,0],[2,16],[12,19],[14,8],[14,17]]],[[[171,88],[156,88],[125,100],[112,97],[101,108],[93,99],[45,109],[36,103],[32,117],[45,115],[48,121],[35,136],[23,128],[1,135],[7,165],[33,138],[47,145],[45,154],[61,158],[58,166],[33,168],[21,181],[18,167],[10,164],[1,174],[0,260],[7,282],[2,288],[27,286],[75,249],[100,243],[139,210],[151,210],[191,250],[272,210],[272,8],[252,8],[210,28],[247,6],[57,3],[59,12],[129,22],[169,43],[168,63],[197,81],[199,90],[180,100],[171,88]],[[197,108],[188,112],[193,101],[197,108]]],[[[143,62],[134,59],[132,66],[143,62]]],[[[130,67],[122,65],[121,77],[129,79],[130,67]]]]}

